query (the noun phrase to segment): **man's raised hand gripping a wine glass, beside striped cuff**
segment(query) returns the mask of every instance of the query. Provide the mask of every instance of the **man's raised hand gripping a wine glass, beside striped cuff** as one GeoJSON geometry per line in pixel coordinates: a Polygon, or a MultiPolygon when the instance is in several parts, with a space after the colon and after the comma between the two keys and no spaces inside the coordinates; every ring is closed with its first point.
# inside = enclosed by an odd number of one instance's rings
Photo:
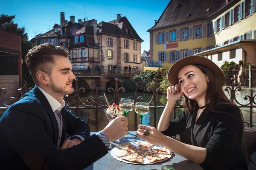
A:
{"type": "Polygon", "coordinates": [[[121,139],[128,132],[128,119],[127,117],[117,117],[113,119],[102,132],[108,137],[109,142],[121,139]]]}

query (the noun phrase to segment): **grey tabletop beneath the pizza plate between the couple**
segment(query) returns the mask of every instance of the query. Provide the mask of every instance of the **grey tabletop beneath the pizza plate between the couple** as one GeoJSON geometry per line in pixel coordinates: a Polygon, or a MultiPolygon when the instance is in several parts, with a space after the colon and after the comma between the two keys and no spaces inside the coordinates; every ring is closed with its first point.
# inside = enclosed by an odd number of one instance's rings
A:
{"type": "MultiPolygon", "coordinates": [[[[91,132],[91,135],[96,132],[91,132]]],[[[126,135],[121,139],[119,143],[111,142],[111,147],[115,147],[124,142],[136,142],[137,140],[142,140],[139,137],[135,137],[135,131],[129,132],[130,134],[126,135]]],[[[175,168],[175,170],[203,170],[203,168],[192,161],[189,161],[182,156],[179,156],[175,153],[172,154],[172,157],[166,161],[159,162],[156,164],[127,164],[122,161],[113,159],[110,151],[108,154],[103,156],[98,161],[91,164],[84,170],[161,170],[161,167],[164,165],[169,165],[175,168]]]]}

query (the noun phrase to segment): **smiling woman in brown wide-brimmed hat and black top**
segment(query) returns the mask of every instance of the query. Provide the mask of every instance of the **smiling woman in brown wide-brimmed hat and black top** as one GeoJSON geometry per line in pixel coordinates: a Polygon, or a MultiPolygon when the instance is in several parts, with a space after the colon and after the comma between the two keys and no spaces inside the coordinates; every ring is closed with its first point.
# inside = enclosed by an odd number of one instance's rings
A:
{"type": "Polygon", "coordinates": [[[246,169],[243,116],[222,90],[221,69],[205,57],[189,56],[171,66],[168,80],[172,86],[167,89],[168,102],[157,129],[139,125],[137,135],[207,170],[246,169]],[[181,96],[185,111],[171,121],[181,96]],[[186,144],[172,138],[183,132],[186,144]]]}

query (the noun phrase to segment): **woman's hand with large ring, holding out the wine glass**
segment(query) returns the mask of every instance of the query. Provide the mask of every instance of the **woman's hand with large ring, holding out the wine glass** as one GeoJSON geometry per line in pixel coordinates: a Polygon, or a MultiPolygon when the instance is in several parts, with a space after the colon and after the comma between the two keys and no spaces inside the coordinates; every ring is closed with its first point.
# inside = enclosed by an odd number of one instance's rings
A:
{"type": "Polygon", "coordinates": [[[160,131],[158,131],[154,127],[139,125],[139,129],[137,130],[137,136],[140,139],[144,139],[144,140],[148,141],[151,144],[163,145],[162,142],[163,142],[163,138],[164,138],[165,135],[163,135],[163,133],[161,133],[160,131]],[[144,133],[143,133],[144,130],[149,131],[148,136],[144,135],[144,133]]]}

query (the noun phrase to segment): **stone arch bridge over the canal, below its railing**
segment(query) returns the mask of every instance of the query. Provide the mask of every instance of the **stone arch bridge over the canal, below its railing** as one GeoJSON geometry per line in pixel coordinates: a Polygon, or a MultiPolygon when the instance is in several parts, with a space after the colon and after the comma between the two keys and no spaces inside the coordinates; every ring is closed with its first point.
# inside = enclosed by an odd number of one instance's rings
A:
{"type": "MultiPolygon", "coordinates": [[[[132,79],[134,75],[122,74],[76,74],[78,81],[78,88],[85,88],[86,90],[106,90],[110,87],[115,87],[115,78],[119,79],[118,87],[121,87],[121,82],[125,79],[132,79]]],[[[75,82],[73,82],[75,88],[75,82]]]]}

